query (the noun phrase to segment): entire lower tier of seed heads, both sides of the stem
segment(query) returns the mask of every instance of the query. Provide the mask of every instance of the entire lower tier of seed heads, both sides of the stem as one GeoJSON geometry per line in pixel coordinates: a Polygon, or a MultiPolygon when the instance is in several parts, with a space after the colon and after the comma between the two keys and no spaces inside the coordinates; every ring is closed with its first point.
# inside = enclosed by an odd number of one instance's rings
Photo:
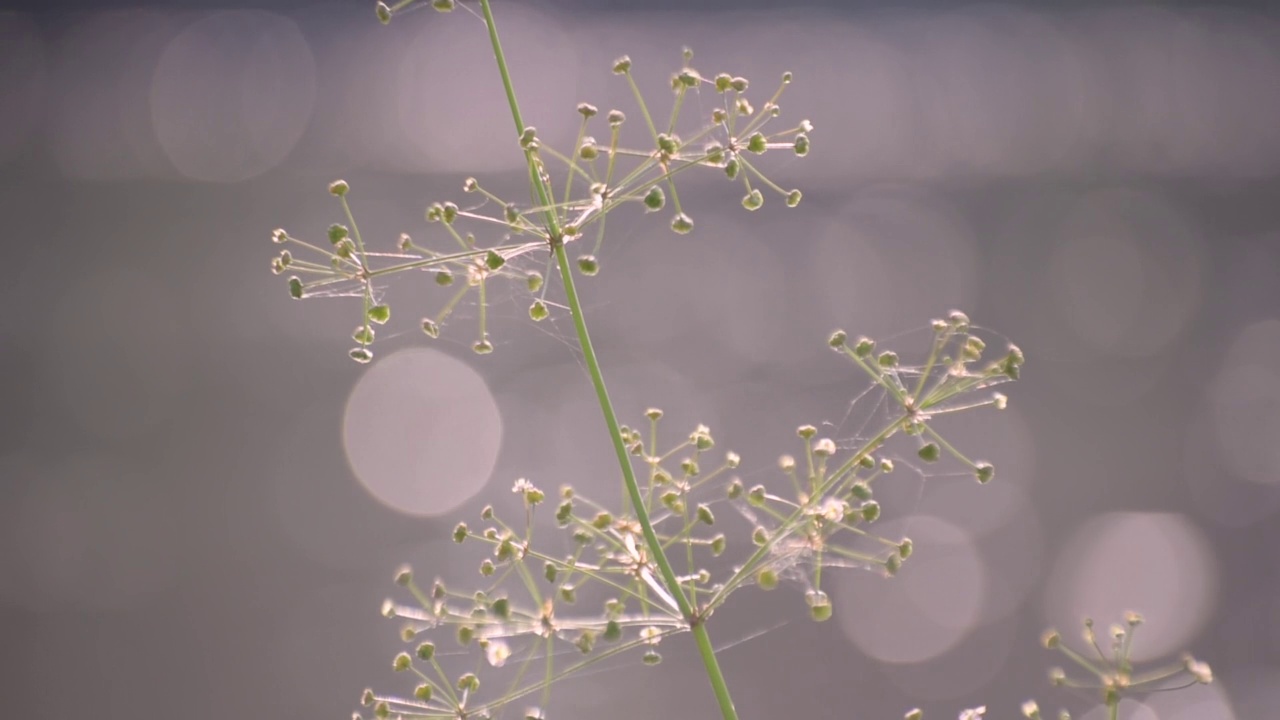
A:
{"type": "MultiPolygon", "coordinates": [[[[705,425],[667,448],[659,445],[662,410],[645,413],[644,430],[623,427],[623,447],[637,470],[644,514],[657,542],[678,566],[673,575],[678,588],[660,571],[630,500],[608,506],[563,487],[552,501],[531,482],[516,480],[512,492],[524,506],[520,523],[503,521],[490,506],[481,512],[483,528],[463,523],[453,533],[460,543],[488,548],[479,565],[486,579],[483,588],[456,592],[440,580],[422,588],[411,570],[397,575],[417,602],[388,601],[384,614],[406,621],[404,639],[419,644],[398,655],[393,667],[415,675],[417,684],[411,697],[369,692],[366,705],[376,717],[481,717],[538,696],[538,706],[526,717],[541,717],[554,682],[628,652],[639,653],[644,664],[657,664],[662,639],[707,621],[733,592],[751,585],[772,589],[783,580],[799,582],[810,616],[827,620],[832,603],[822,591],[824,569],[879,568],[893,574],[913,552],[909,538],[890,539],[870,530],[881,516],[873,488],[895,469],[884,454],[890,438],[902,434],[918,441],[922,459],[941,452],[924,450],[936,443],[969,462],[979,480],[991,479],[989,465],[969,461],[929,421],[942,413],[1002,407],[1004,396],[989,388],[1018,375],[1021,354],[1011,348],[982,365],[984,343],[961,313],[938,320],[933,333],[929,356],[914,366],[897,363],[896,355],[890,363],[891,352],[870,361],[867,348],[874,343],[869,340],[846,347],[842,333],[833,336],[832,347],[847,351],[884,397],[895,398],[896,409],[854,451],[818,437],[813,425],[799,428],[804,457],[786,456],[780,462],[790,492],[744,484],[733,475],[741,462],[735,452],[708,462],[716,441],[705,425]],[[746,560],[728,568],[714,561],[730,544],[716,516],[726,502],[754,525],[746,560]],[[552,503],[563,536],[548,541],[539,534],[535,543],[535,520],[552,503]],[[547,550],[557,539],[567,552],[547,550]],[[691,611],[681,607],[677,594],[691,611]],[[461,674],[445,669],[438,639],[422,642],[445,626],[472,657],[461,674]],[[497,688],[492,693],[481,693],[481,670],[493,675],[484,684],[497,688]]],[[[630,496],[623,492],[621,497],[630,496]]]]}

